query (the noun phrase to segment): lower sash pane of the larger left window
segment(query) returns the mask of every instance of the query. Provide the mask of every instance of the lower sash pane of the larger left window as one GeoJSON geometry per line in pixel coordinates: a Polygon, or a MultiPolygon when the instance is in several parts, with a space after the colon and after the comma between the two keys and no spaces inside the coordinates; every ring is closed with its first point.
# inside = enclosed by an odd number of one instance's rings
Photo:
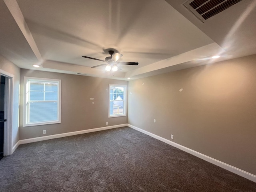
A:
{"type": "Polygon", "coordinates": [[[47,122],[58,120],[57,102],[29,103],[29,122],[47,122]]]}

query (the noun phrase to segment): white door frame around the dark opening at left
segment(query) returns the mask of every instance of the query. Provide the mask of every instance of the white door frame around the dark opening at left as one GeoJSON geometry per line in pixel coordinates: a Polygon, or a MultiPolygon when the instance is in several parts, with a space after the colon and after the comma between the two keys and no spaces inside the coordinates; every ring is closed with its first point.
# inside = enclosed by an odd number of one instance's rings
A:
{"type": "Polygon", "coordinates": [[[4,90],[4,156],[12,154],[12,114],[13,114],[13,91],[14,75],[0,69],[0,75],[5,77],[4,90]]]}

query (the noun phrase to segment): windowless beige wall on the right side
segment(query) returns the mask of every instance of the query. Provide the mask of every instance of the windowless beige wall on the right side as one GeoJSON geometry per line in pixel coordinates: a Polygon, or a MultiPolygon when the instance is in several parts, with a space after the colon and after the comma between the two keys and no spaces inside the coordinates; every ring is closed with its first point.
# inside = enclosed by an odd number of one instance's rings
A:
{"type": "Polygon", "coordinates": [[[128,89],[128,124],[256,175],[256,55],[133,80],[128,89]]]}

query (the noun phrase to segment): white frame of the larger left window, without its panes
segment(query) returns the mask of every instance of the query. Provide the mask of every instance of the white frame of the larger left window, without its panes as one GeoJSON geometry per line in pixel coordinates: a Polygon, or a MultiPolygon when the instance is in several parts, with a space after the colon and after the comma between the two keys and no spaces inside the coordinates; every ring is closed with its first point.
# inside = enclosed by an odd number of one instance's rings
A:
{"type": "Polygon", "coordinates": [[[38,125],[48,125],[48,124],[56,124],[56,123],[61,123],[61,80],[60,79],[48,79],[48,78],[36,78],[36,77],[24,77],[24,105],[23,105],[23,127],[28,127],[28,126],[38,126],[38,125]],[[47,122],[28,122],[28,89],[29,81],[38,81],[38,82],[52,82],[52,83],[58,83],[58,120],[55,121],[47,121],[47,122]]]}

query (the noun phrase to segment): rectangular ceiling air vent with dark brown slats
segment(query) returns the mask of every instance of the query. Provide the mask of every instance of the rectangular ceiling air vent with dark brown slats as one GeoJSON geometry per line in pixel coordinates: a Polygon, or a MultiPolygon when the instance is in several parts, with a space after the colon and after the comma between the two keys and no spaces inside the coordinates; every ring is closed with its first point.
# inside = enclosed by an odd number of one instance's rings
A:
{"type": "Polygon", "coordinates": [[[242,0],[189,0],[183,5],[202,22],[242,0]]]}

